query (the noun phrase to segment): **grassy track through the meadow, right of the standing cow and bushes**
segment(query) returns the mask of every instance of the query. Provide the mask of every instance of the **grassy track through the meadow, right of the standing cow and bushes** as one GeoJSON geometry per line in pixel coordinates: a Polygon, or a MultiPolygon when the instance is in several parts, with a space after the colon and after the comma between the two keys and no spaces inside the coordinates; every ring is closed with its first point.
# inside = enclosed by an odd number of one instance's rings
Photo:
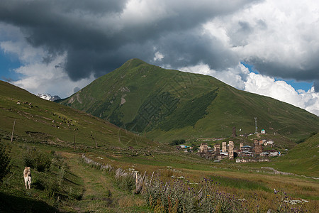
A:
{"type": "Polygon", "coordinates": [[[111,175],[91,168],[81,161],[81,155],[61,153],[69,170],[82,179],[82,200],[72,203],[76,212],[135,212],[131,207],[144,204],[140,197],[124,192],[113,184],[111,175]]]}

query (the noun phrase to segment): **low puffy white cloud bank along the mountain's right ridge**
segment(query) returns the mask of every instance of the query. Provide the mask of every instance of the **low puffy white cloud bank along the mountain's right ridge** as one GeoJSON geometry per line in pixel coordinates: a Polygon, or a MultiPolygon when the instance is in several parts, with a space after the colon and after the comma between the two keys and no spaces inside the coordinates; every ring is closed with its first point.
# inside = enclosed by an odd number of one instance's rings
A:
{"type": "Polygon", "coordinates": [[[306,109],[319,116],[319,93],[312,87],[307,92],[299,89],[296,91],[290,84],[282,80],[274,80],[274,77],[250,72],[247,67],[240,64],[222,72],[210,70],[208,65],[199,64],[193,67],[182,67],[185,72],[211,75],[218,80],[247,92],[261,94],[306,109]]]}

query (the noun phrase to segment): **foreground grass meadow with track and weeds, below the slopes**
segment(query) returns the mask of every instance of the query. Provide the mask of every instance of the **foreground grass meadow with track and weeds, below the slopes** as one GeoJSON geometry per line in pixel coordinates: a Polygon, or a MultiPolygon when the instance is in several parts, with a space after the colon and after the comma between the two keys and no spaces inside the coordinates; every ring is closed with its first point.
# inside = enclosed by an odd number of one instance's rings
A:
{"type": "Polygon", "coordinates": [[[136,195],[133,193],[134,177],[130,183],[117,180],[114,171],[87,165],[81,153],[70,148],[10,143],[4,139],[1,143],[11,147],[11,170],[0,185],[3,198],[0,210],[6,212],[21,209],[27,212],[205,212],[205,209],[211,212],[267,212],[268,209],[316,212],[318,209],[318,180],[274,175],[253,164],[213,163],[178,151],[93,148],[85,153],[95,162],[112,165],[114,170],[122,168],[128,173],[130,170],[145,173],[148,187],[136,195]],[[25,190],[22,171],[24,156],[30,150],[47,156],[50,167],[41,171],[31,168],[33,183],[31,190],[25,190]],[[138,155],[130,156],[132,153],[138,155]],[[293,204],[291,200],[302,203],[293,204]]]}

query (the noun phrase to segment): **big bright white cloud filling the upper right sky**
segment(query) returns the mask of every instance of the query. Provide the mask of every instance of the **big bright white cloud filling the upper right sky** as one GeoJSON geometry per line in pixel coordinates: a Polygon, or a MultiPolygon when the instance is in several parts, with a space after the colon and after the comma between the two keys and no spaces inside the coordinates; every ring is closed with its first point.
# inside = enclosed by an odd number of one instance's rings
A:
{"type": "Polygon", "coordinates": [[[311,80],[319,65],[319,1],[261,1],[204,28],[264,75],[311,80]]]}

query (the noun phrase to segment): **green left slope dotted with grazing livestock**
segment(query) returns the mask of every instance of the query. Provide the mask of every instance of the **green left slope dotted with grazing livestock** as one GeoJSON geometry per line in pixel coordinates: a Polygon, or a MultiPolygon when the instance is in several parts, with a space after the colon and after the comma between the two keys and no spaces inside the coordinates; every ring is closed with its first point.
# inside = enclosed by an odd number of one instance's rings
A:
{"type": "Polygon", "coordinates": [[[145,137],[119,129],[83,111],[50,102],[0,81],[0,138],[73,148],[156,146],[145,137]],[[28,138],[28,139],[26,139],[28,138]]]}

